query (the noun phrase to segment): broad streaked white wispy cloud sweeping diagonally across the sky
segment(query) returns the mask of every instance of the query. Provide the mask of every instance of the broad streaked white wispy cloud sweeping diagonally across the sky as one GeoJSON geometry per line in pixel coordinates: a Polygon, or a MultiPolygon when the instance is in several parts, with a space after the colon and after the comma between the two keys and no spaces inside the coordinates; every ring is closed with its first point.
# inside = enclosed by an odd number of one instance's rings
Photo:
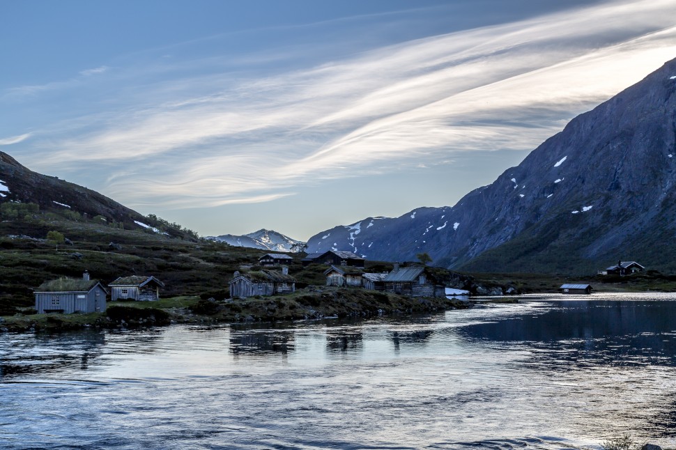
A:
{"type": "Polygon", "coordinates": [[[616,1],[270,76],[180,77],[52,139],[36,165],[105,162],[107,192],[137,205],[269,201],[455,152],[534,148],[676,56],[675,42],[672,0],[616,1]]]}

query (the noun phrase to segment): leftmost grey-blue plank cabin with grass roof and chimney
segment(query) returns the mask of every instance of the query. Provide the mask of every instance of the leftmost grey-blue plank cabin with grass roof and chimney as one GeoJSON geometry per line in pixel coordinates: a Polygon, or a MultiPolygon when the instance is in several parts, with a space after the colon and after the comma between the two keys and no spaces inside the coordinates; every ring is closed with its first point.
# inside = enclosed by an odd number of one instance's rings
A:
{"type": "Polygon", "coordinates": [[[46,281],[34,293],[38,314],[95,313],[106,310],[108,290],[84,272],[82,278],[46,281]]]}

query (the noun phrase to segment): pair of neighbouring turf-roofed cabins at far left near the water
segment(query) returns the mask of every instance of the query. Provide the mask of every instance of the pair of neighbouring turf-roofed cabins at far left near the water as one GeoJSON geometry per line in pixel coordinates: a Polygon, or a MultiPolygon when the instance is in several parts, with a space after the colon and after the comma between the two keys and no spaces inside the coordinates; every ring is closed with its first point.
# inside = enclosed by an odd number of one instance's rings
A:
{"type": "Polygon", "coordinates": [[[36,311],[43,313],[93,313],[106,310],[106,297],[112,300],[153,301],[160,297],[162,281],[155,277],[119,277],[107,287],[84,272],[81,279],[60,278],[46,281],[35,291],[36,311]]]}

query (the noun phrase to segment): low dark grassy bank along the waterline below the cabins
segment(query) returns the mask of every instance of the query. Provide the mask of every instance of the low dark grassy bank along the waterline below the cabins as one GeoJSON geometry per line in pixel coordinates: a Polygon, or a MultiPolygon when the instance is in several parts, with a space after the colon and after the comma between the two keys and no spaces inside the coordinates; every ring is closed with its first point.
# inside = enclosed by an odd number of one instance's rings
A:
{"type": "Polygon", "coordinates": [[[1,318],[0,330],[25,332],[170,323],[272,323],[323,317],[427,313],[467,307],[466,302],[445,297],[412,298],[375,290],[322,286],[300,289],[291,295],[243,300],[203,300],[199,296],[182,296],[158,302],[108,302],[105,313],[15,314],[1,318]]]}

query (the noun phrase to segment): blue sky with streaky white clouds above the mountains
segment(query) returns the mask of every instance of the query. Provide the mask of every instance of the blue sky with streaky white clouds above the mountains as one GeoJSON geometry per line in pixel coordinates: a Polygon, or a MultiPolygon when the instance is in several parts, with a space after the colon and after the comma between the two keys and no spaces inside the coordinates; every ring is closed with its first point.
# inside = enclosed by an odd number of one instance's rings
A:
{"type": "Polygon", "coordinates": [[[0,151],[200,235],[454,205],[676,57],[676,0],[0,0],[0,151]]]}

